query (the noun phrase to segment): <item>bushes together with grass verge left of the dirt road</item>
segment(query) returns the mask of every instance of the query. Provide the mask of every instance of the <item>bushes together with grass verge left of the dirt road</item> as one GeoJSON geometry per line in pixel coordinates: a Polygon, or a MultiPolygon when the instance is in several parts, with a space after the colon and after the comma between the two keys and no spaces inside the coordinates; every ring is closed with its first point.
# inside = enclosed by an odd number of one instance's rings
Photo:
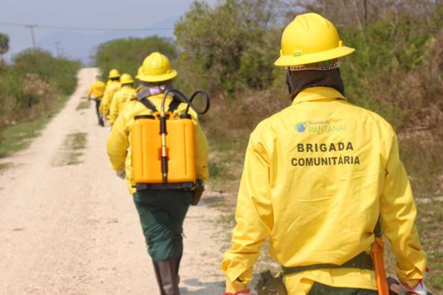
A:
{"type": "Polygon", "coordinates": [[[77,85],[80,62],[24,50],[0,63],[0,158],[28,146],[77,85]]]}

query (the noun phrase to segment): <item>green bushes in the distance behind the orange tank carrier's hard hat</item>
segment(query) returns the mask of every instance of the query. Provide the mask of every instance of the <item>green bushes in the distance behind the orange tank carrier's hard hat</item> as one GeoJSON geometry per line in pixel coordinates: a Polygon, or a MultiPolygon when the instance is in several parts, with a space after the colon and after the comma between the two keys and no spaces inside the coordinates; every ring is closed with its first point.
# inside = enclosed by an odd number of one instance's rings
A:
{"type": "Polygon", "coordinates": [[[137,74],[138,67],[150,53],[159,51],[170,59],[176,57],[176,48],[172,41],[153,36],[147,38],[116,39],[101,44],[96,54],[96,65],[107,77],[109,70],[116,68],[120,74],[137,74]]]}

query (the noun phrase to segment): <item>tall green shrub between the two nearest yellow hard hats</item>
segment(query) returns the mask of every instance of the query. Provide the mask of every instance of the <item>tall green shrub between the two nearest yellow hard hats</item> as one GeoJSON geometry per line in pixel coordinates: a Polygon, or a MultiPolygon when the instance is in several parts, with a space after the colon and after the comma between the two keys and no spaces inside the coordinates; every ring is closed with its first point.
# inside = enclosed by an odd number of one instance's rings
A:
{"type": "Polygon", "coordinates": [[[232,96],[244,88],[264,89],[273,82],[280,32],[276,0],[226,0],[211,7],[195,1],[176,24],[181,48],[178,63],[186,68],[185,88],[203,86],[232,96]]]}

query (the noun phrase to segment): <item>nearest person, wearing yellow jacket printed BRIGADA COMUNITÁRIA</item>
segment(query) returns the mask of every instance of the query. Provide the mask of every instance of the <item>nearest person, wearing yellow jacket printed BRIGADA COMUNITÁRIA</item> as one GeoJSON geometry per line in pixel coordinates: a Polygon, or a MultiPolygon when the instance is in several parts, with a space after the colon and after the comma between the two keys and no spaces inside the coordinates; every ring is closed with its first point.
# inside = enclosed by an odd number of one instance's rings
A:
{"type": "Polygon", "coordinates": [[[339,57],[354,51],[320,15],[284,29],[276,66],[287,68],[291,106],[249,138],[226,294],[247,293],[260,246],[282,265],[289,295],[377,294],[369,253],[381,222],[405,294],[426,294],[417,209],[392,126],[345,98],[339,57]]]}

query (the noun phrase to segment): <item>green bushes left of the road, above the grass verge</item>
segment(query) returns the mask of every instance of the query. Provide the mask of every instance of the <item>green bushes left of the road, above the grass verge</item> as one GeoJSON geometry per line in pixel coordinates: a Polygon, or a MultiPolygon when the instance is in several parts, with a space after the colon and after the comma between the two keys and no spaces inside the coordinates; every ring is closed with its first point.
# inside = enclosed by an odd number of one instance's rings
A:
{"type": "Polygon", "coordinates": [[[52,57],[43,50],[24,50],[12,65],[0,64],[0,131],[17,122],[32,122],[51,111],[77,85],[80,63],[52,57]]]}

